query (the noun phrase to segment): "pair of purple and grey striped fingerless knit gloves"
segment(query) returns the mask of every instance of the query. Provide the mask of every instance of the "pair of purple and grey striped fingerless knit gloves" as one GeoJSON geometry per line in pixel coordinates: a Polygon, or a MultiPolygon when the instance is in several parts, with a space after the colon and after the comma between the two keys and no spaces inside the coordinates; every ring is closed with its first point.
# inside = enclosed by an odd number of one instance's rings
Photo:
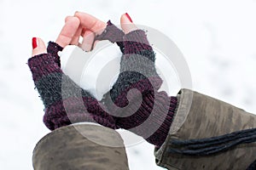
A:
{"type": "Polygon", "coordinates": [[[108,92],[109,95],[104,95],[102,102],[63,74],[58,56],[62,48],[55,42],[49,42],[48,54],[39,54],[28,60],[36,88],[45,105],[45,125],[54,130],[73,122],[96,121],[106,127],[130,130],[160,147],[172,124],[177,98],[169,97],[166,92],[158,92],[162,80],[155,70],[155,54],[145,32],[137,30],[125,35],[108,21],[106,30],[96,40],[117,42],[123,53],[118,80],[108,92]],[[130,100],[127,99],[128,92],[130,100]],[[140,96],[142,104],[137,107],[140,96]],[[129,106],[125,107],[125,111],[119,110],[111,105],[110,100],[120,108],[129,106]],[[127,113],[134,114],[125,116],[127,113]],[[157,128],[151,132],[153,129],[149,127],[139,127],[147,121],[157,128]]]}

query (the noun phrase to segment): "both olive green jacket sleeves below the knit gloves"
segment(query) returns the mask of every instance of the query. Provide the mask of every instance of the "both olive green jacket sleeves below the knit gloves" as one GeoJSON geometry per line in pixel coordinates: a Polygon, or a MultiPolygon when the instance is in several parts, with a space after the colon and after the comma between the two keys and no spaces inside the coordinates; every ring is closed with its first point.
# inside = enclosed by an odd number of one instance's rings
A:
{"type": "MultiPolygon", "coordinates": [[[[179,105],[165,143],[154,151],[156,163],[168,169],[245,170],[256,160],[256,143],[240,144],[210,156],[184,156],[176,139],[205,139],[256,127],[256,116],[218,99],[182,89],[179,105]]],[[[108,127],[73,124],[57,128],[41,139],[33,151],[36,170],[127,170],[125,145],[108,127]]]]}

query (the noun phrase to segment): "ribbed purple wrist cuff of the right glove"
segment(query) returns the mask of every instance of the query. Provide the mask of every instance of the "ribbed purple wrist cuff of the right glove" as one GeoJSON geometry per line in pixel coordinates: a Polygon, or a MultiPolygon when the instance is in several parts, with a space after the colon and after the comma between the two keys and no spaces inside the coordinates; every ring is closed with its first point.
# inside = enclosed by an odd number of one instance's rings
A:
{"type": "Polygon", "coordinates": [[[171,127],[177,98],[170,98],[165,92],[156,93],[155,96],[145,94],[142,105],[137,111],[134,111],[137,107],[135,100],[125,109],[126,113],[134,114],[126,117],[120,115],[116,120],[117,127],[125,128],[142,136],[148,143],[160,146],[166,140],[171,127]]]}

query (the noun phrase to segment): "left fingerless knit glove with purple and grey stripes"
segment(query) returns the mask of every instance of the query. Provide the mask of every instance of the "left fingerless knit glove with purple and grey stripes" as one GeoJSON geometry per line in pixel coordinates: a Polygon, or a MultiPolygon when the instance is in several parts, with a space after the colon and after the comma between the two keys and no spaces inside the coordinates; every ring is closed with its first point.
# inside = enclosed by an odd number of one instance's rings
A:
{"type": "Polygon", "coordinates": [[[28,59],[32,78],[45,106],[44,124],[50,130],[75,122],[97,122],[115,128],[113,116],[104,105],[73,82],[61,71],[58,51],[62,48],[49,42],[48,54],[28,59]]]}

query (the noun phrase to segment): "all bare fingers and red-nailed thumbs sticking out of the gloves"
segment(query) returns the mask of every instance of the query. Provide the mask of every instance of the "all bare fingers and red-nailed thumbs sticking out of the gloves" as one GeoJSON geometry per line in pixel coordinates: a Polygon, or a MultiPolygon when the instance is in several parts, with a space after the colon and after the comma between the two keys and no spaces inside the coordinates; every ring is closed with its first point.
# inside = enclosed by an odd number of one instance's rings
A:
{"type": "MultiPolygon", "coordinates": [[[[137,30],[137,26],[132,23],[131,17],[127,13],[121,15],[120,24],[125,34],[137,30]]],[[[66,17],[65,25],[55,42],[62,48],[67,45],[76,45],[84,51],[90,51],[93,48],[96,35],[100,35],[106,26],[105,22],[90,14],[76,12],[73,16],[66,17]],[[79,42],[80,37],[83,37],[81,43],[79,42]]],[[[33,38],[32,44],[32,56],[47,53],[45,43],[41,38],[33,38]]]]}

